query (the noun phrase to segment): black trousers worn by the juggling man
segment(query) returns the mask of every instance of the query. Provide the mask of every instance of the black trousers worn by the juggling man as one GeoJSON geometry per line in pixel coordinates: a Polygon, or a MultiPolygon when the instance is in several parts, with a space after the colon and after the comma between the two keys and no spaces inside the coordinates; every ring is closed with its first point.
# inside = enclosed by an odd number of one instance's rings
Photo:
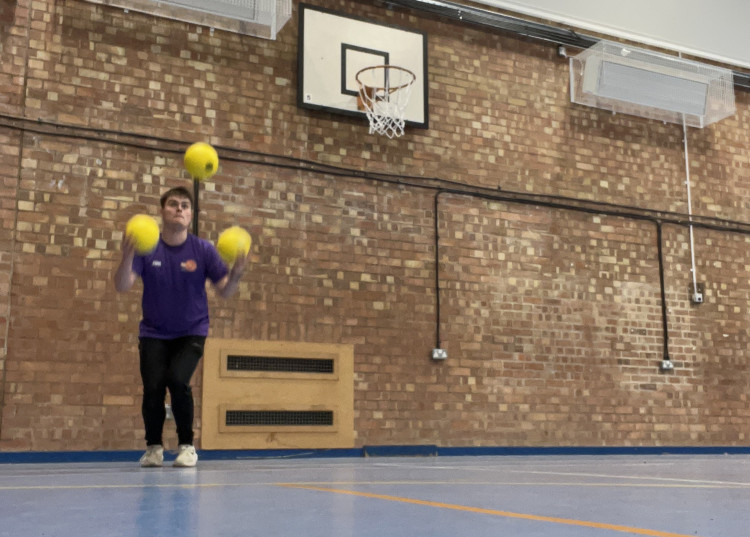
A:
{"type": "Polygon", "coordinates": [[[169,390],[172,413],[177,425],[180,444],[193,443],[193,390],[190,379],[203,356],[203,336],[177,339],[140,338],[138,350],[141,357],[143,380],[143,424],[146,444],[163,444],[162,432],[166,410],[164,401],[169,390]]]}

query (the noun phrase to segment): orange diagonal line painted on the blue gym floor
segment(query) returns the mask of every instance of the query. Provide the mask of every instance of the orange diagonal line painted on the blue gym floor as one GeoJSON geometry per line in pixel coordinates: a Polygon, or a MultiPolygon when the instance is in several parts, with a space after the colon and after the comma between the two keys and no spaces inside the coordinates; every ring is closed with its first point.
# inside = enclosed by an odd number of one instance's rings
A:
{"type": "Polygon", "coordinates": [[[311,485],[300,485],[296,483],[279,483],[279,486],[288,487],[288,488],[305,489],[305,490],[316,490],[320,492],[333,492],[336,494],[347,494],[349,496],[361,496],[363,498],[375,498],[378,500],[411,503],[415,505],[426,505],[429,507],[440,507],[442,509],[453,509],[455,511],[465,511],[469,513],[481,513],[484,515],[502,516],[502,517],[507,517],[507,518],[519,518],[523,520],[534,520],[534,521],[539,521],[539,522],[552,522],[555,524],[567,524],[570,526],[597,528],[597,529],[611,530],[611,531],[621,531],[621,532],[631,533],[631,534],[636,534],[636,535],[648,535],[649,537],[696,537],[696,535],[694,534],[686,535],[682,533],[670,533],[668,531],[657,531],[657,530],[648,530],[648,529],[643,529],[643,528],[633,528],[630,526],[620,526],[617,524],[604,524],[601,522],[589,522],[586,520],[574,520],[570,518],[558,518],[558,517],[548,517],[548,516],[539,516],[539,515],[529,515],[529,514],[524,514],[524,513],[513,513],[510,511],[499,511],[496,509],[483,509],[481,507],[469,507],[465,505],[456,505],[452,503],[415,500],[414,498],[403,498],[400,496],[389,496],[386,494],[373,494],[370,492],[359,492],[356,490],[331,489],[331,488],[325,488],[325,487],[314,487],[311,485]]]}

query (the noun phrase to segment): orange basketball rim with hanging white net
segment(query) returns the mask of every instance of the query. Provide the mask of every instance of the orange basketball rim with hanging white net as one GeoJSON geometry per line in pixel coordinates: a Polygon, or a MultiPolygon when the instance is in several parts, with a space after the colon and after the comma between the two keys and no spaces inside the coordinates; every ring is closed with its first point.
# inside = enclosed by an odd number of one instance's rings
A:
{"type": "Polygon", "coordinates": [[[359,85],[357,108],[367,115],[370,134],[402,136],[416,75],[404,67],[373,65],[360,69],[354,78],[359,85]]]}

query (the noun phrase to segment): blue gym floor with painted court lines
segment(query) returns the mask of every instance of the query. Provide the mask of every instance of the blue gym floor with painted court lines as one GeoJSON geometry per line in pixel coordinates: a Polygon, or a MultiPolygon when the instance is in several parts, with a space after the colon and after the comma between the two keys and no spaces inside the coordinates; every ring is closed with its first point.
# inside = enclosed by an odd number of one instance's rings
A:
{"type": "Polygon", "coordinates": [[[0,464],[13,537],[747,537],[748,506],[750,455],[0,464]]]}

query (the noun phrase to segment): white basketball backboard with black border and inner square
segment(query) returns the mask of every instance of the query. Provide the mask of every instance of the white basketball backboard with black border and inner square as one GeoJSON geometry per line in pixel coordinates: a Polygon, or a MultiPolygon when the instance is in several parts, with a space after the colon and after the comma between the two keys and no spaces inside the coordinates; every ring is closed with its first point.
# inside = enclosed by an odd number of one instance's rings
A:
{"type": "Polygon", "coordinates": [[[299,84],[297,104],[362,117],[357,106],[358,71],[395,65],[416,75],[405,111],[406,125],[428,127],[427,38],[317,6],[299,6],[299,84]]]}

